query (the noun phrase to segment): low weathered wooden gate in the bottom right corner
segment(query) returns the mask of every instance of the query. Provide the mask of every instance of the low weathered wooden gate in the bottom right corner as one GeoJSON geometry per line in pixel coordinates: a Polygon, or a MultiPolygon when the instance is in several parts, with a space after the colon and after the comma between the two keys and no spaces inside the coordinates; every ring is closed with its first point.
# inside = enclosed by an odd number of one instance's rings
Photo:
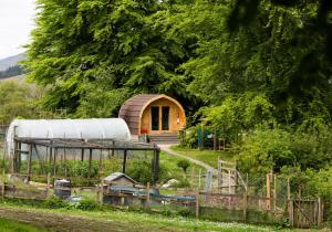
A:
{"type": "Polygon", "coordinates": [[[323,204],[318,200],[289,200],[290,224],[294,228],[320,226],[323,204]]]}

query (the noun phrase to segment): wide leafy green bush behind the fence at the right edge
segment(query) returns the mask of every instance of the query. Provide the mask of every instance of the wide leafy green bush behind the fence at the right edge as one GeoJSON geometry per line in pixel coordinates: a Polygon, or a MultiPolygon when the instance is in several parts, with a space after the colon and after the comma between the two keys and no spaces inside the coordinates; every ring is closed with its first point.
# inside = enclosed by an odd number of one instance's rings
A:
{"type": "Polygon", "coordinates": [[[282,167],[319,170],[332,161],[332,136],[303,131],[258,128],[243,136],[236,146],[238,167],[243,172],[280,172],[282,167]]]}

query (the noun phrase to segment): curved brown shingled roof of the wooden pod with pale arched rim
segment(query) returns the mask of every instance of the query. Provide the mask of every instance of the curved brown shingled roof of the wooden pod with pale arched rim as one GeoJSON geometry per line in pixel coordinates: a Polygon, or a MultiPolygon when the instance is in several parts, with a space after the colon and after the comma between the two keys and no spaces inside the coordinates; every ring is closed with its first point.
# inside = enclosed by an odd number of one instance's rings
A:
{"type": "Polygon", "coordinates": [[[166,98],[175,103],[183,112],[184,107],[174,98],[164,94],[139,94],[127,99],[118,112],[118,117],[123,118],[132,133],[132,135],[139,135],[141,118],[144,109],[157,99],[166,98]]]}

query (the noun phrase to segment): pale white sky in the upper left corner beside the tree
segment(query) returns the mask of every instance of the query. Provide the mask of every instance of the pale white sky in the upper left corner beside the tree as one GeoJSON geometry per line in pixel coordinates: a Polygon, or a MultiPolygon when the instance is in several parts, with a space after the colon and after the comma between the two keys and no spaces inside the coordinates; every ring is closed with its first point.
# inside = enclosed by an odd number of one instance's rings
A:
{"type": "Polygon", "coordinates": [[[0,59],[24,52],[34,13],[34,0],[0,0],[0,59]]]}

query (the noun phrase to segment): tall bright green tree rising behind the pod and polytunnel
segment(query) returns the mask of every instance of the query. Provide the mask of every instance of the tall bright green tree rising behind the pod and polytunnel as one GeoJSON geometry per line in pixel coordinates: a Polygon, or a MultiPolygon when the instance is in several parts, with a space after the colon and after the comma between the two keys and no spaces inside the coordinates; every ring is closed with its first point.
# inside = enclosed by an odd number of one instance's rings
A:
{"type": "Polygon", "coordinates": [[[51,86],[45,107],[111,116],[132,94],[186,99],[186,80],[177,67],[188,54],[158,24],[167,20],[168,3],[38,0],[38,8],[25,65],[30,78],[51,86]]]}

